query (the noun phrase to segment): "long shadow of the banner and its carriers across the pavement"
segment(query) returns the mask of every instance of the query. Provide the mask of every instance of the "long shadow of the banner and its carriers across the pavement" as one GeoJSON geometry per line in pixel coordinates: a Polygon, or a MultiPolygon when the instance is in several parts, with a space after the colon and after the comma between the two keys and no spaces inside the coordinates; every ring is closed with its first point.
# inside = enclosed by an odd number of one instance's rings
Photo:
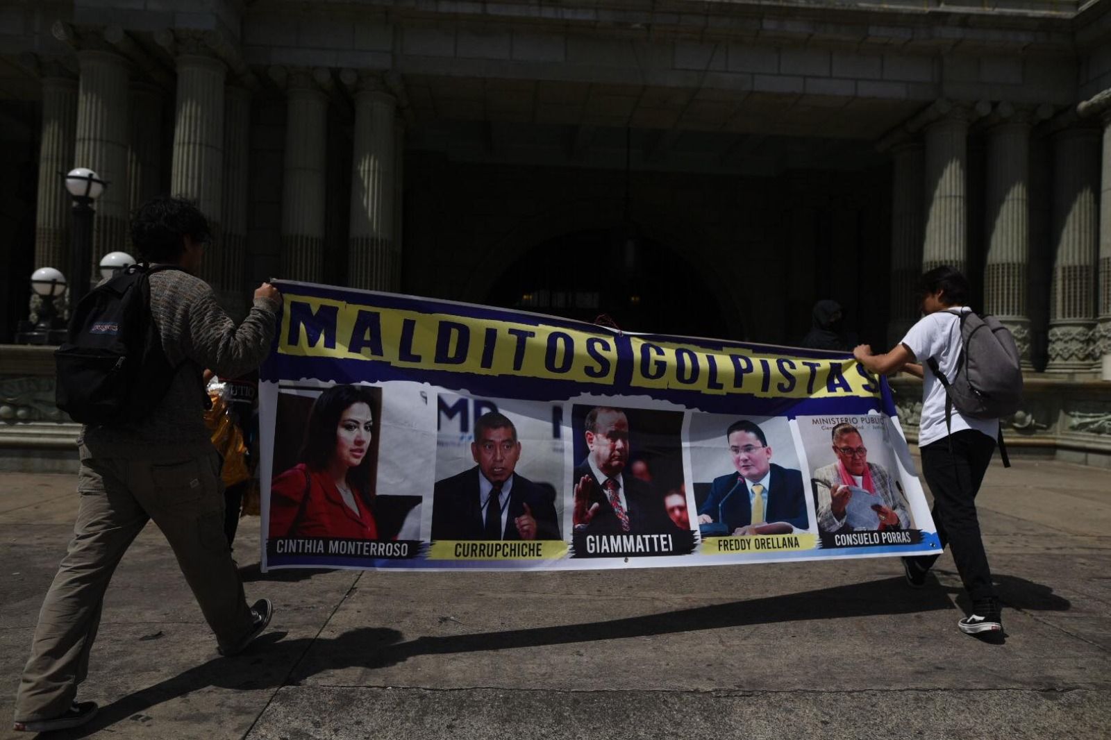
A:
{"type": "MultiPolygon", "coordinates": [[[[1068,599],[1054,596],[1047,586],[1013,576],[997,576],[995,581],[1000,596],[1009,607],[1054,611],[1070,608],[1068,599]]],[[[260,637],[247,652],[237,658],[217,658],[191,668],[102,707],[92,722],[78,730],[58,732],[51,737],[83,738],[163,701],[207,687],[277,689],[299,683],[324,670],[378,669],[403,663],[418,656],[537,648],[752,624],[951,610],[951,591],[955,589],[939,588],[935,583],[921,591],[911,591],[904,587],[903,579],[887,578],[603,622],[420,637],[404,642],[401,632],[384,627],[360,627],[334,638],[320,639],[284,640],[284,632],[270,632],[260,637]]],[[[955,626],[953,632],[954,639],[958,639],[955,626]]]]}

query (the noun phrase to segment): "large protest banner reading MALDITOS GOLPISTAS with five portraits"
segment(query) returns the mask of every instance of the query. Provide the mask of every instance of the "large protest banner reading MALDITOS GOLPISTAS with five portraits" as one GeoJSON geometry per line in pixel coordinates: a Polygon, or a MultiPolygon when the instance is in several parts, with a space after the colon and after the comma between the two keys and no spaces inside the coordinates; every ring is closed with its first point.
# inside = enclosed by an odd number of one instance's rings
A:
{"type": "Polygon", "coordinates": [[[847,354],[276,284],[263,569],[940,549],[887,381],[847,354]]]}

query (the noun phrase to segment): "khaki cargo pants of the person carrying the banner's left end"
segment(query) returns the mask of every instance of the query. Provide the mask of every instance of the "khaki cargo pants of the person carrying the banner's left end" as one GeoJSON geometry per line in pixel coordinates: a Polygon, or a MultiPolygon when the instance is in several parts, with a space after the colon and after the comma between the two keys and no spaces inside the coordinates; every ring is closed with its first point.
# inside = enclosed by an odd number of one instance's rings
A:
{"type": "Polygon", "coordinates": [[[223,533],[219,456],[154,464],[92,458],[81,448],[81,497],[73,539],[47,592],[31,659],[16,694],[16,720],[69,709],[84,680],[104,591],[136,536],[153,519],[220,644],[252,629],[239,571],[223,533]]]}

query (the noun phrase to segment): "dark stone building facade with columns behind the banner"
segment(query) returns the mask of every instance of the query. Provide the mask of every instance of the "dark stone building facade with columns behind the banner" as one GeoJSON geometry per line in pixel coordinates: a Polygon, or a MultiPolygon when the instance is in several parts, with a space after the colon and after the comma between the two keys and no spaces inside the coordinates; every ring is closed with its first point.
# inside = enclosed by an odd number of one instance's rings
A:
{"type": "MultiPolygon", "coordinates": [[[[791,343],[951,263],[1031,370],[1111,353],[1111,0],[71,0],[0,8],[0,342],[171,192],[280,277],[791,343]]],[[[90,266],[90,272],[92,266],[90,266]]],[[[1111,411],[1111,409],[1109,409],[1111,411]]]]}

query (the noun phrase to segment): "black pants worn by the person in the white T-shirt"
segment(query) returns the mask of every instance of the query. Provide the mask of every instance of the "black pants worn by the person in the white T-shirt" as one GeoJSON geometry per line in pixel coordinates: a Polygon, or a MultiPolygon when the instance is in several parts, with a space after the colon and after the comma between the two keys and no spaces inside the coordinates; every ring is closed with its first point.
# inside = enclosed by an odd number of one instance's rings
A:
{"type": "MultiPolygon", "coordinates": [[[[922,473],[933,492],[933,522],[941,547],[949,544],[964,590],[973,601],[993,598],[995,589],[980,537],[975,494],[995,451],[995,440],[973,429],[962,429],[920,450],[922,473]]],[[[914,560],[929,568],[939,557],[919,556],[914,560]]]]}

